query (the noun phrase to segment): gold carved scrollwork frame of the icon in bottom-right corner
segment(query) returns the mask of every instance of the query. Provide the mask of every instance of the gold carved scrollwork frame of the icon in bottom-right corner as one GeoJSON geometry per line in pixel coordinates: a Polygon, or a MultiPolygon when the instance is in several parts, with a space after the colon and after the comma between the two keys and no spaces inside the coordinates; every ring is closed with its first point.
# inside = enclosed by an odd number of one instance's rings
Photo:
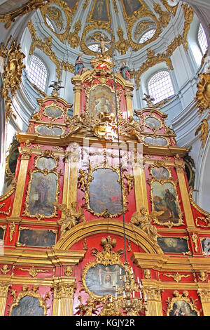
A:
{"type": "MultiPolygon", "coordinates": [[[[173,296],[174,298],[172,299],[170,299],[169,297],[167,298],[167,316],[188,316],[188,314],[186,313],[186,309],[188,310],[188,308],[190,308],[190,312],[194,316],[200,316],[200,311],[197,310],[197,307],[195,305],[196,301],[192,297],[188,297],[188,291],[183,291],[183,293],[179,293],[179,291],[175,290],[173,292],[173,296]]],[[[192,315],[191,313],[190,315],[192,315]]]]}

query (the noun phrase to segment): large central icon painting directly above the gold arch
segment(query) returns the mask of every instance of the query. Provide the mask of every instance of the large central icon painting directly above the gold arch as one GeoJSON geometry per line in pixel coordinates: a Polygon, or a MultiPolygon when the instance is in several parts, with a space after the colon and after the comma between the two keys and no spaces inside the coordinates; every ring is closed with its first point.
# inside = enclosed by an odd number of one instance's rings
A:
{"type": "MultiPolygon", "coordinates": [[[[89,173],[90,174],[90,173],[89,173]]],[[[118,169],[97,168],[88,176],[85,199],[88,211],[95,216],[116,217],[127,211],[126,191],[120,185],[118,169]]]]}

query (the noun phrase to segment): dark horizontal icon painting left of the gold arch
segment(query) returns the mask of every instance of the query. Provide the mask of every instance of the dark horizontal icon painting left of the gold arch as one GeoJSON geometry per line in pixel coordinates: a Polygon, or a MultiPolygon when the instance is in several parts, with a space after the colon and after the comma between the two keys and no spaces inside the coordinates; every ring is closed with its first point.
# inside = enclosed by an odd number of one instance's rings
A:
{"type": "Polygon", "coordinates": [[[20,227],[18,245],[51,247],[55,245],[56,234],[55,230],[35,230],[20,227]]]}

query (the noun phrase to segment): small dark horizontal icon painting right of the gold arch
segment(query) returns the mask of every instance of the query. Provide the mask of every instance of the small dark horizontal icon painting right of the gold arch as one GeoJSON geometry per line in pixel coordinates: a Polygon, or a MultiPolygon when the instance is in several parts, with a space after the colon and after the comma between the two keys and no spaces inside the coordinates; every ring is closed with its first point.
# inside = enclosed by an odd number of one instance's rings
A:
{"type": "Polygon", "coordinates": [[[188,239],[184,237],[158,237],[158,245],[165,253],[188,253],[188,239]]]}

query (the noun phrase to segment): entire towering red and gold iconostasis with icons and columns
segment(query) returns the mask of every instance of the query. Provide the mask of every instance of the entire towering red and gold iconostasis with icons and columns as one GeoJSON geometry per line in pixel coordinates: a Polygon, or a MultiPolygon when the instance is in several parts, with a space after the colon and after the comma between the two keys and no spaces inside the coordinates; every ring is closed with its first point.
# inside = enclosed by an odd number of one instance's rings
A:
{"type": "Polygon", "coordinates": [[[7,157],[1,315],[209,315],[210,215],[188,150],[155,105],[133,110],[109,58],[91,64],[73,105],[37,100],[7,157]]]}

